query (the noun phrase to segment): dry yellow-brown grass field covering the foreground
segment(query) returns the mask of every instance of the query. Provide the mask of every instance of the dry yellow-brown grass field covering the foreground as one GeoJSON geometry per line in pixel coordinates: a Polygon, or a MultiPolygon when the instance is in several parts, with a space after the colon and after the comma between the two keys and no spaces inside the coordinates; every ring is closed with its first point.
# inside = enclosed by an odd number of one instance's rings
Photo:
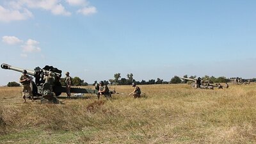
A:
{"type": "MultiPolygon", "coordinates": [[[[112,100],[23,103],[21,88],[0,88],[0,143],[256,143],[256,84],[192,89],[188,84],[109,86],[112,100]]],[[[87,87],[88,88],[88,87],[87,87]]],[[[63,93],[65,96],[65,93],[63,93]]]]}

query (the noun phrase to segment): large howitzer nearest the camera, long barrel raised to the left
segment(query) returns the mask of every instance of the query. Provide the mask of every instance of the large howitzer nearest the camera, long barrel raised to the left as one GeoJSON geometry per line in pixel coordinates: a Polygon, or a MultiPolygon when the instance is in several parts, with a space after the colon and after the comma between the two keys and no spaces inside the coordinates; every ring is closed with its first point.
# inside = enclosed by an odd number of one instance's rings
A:
{"type": "MultiPolygon", "coordinates": [[[[18,68],[18,67],[12,67],[11,65],[8,65],[6,63],[3,63],[1,65],[1,68],[3,69],[10,69],[15,70],[17,72],[22,72],[23,70],[27,70],[27,74],[30,76],[35,77],[35,85],[33,86],[33,93],[36,93],[35,96],[45,96],[45,99],[50,99],[47,97],[47,94],[45,94],[44,90],[49,89],[49,84],[44,83],[44,77],[46,72],[51,72],[54,77],[54,82],[52,84],[52,92],[55,93],[56,97],[61,95],[63,92],[67,92],[66,88],[61,86],[60,79],[61,79],[61,70],[58,68],[54,68],[52,66],[46,65],[44,68],[36,67],[34,70],[24,69],[24,68],[18,68]]],[[[70,88],[70,93],[98,93],[98,90],[90,90],[85,88],[70,88]]]]}

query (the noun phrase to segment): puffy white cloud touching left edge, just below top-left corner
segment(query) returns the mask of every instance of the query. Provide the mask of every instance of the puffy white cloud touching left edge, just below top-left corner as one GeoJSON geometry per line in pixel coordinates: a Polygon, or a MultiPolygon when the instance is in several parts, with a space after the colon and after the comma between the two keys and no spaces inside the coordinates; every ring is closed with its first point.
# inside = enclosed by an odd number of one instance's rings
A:
{"type": "Polygon", "coordinates": [[[33,17],[33,14],[26,8],[20,10],[8,10],[0,6],[0,21],[10,22],[12,20],[26,20],[33,17]]]}

